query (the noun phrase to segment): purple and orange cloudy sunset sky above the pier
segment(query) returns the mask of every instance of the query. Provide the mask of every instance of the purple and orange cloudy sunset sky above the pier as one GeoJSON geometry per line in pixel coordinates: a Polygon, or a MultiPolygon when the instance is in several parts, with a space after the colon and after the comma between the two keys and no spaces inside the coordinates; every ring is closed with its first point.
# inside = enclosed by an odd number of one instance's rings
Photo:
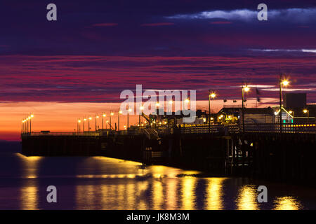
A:
{"type": "MultiPolygon", "coordinates": [[[[316,2],[264,1],[22,1],[0,2],[0,139],[19,139],[20,120],[34,113],[34,131],[72,131],[77,118],[118,110],[119,94],[135,90],[197,90],[218,94],[212,111],[254,106],[284,92],[316,102],[316,2]],[[55,3],[57,21],[46,20],[55,3]],[[253,99],[251,101],[251,99],[253,99]]],[[[136,119],[136,118],[135,118],[136,119]]],[[[123,124],[121,124],[123,125],[123,124]]]]}

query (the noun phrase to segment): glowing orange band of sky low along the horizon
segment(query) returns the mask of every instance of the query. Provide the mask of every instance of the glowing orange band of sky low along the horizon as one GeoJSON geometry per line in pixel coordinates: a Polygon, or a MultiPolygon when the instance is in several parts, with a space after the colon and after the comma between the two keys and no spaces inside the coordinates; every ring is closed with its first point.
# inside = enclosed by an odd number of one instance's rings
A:
{"type": "MultiPolygon", "coordinates": [[[[263,99],[264,106],[272,106],[277,99],[263,99]],[[269,104],[269,102],[271,104],[269,104]]],[[[211,112],[218,112],[224,105],[241,104],[241,100],[233,103],[232,101],[223,102],[222,99],[212,100],[211,112]]],[[[246,105],[249,107],[256,105],[256,99],[248,99],[246,105]]],[[[104,128],[106,120],[110,120],[110,111],[114,111],[112,116],[112,125],[117,123],[117,112],[119,111],[119,103],[61,103],[61,102],[4,102],[0,107],[0,140],[16,141],[20,139],[21,121],[30,113],[34,114],[32,118],[32,132],[40,132],[49,130],[51,132],[77,132],[77,120],[81,120],[91,116],[91,130],[95,130],[96,113],[100,116],[97,125],[102,128],[103,112],[107,115],[104,118],[104,128]],[[8,115],[8,111],[11,113],[8,115]],[[25,113],[27,111],[27,113],[25,113]]],[[[198,101],[197,109],[207,111],[208,101],[198,101]]],[[[260,106],[263,107],[263,106],[260,106]]],[[[145,120],[142,118],[142,120],[145,120]]],[[[124,130],[127,123],[126,116],[120,116],[120,130],[124,130]]],[[[138,115],[129,116],[129,125],[137,125],[138,115]]],[[[109,126],[107,125],[107,128],[109,126]]],[[[86,123],[86,130],[88,125],[86,123]]],[[[82,123],[81,123],[82,131],[82,123]]]]}

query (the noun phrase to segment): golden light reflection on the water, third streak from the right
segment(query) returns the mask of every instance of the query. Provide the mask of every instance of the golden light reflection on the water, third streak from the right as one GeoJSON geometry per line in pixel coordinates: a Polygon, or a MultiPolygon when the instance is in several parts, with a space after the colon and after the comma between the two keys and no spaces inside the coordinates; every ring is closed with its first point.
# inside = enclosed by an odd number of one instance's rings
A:
{"type": "Polygon", "coordinates": [[[206,209],[223,209],[223,181],[225,178],[208,179],[209,184],[206,190],[206,209]]]}

